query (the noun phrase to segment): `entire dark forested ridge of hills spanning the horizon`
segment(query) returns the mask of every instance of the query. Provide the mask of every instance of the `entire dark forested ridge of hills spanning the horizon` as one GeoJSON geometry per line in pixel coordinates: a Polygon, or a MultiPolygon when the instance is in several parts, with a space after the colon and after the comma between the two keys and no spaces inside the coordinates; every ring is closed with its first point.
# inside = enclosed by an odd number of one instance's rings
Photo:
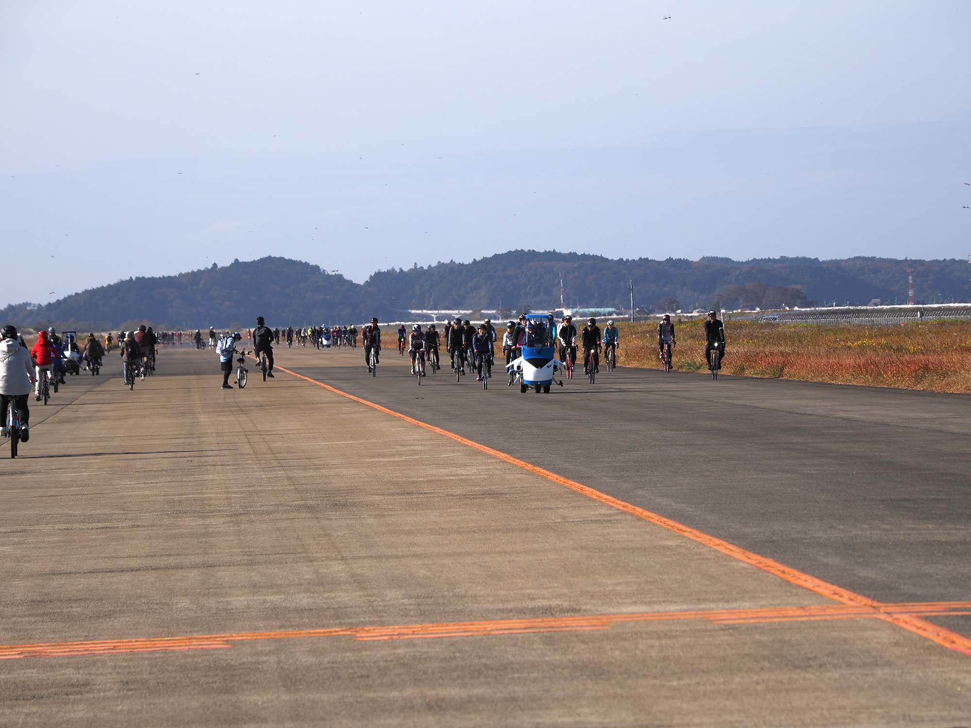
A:
{"type": "Polygon", "coordinates": [[[118,328],[147,321],[161,328],[248,322],[274,325],[382,320],[410,309],[534,310],[559,307],[563,274],[567,308],[760,308],[810,302],[866,304],[907,300],[907,268],[917,298],[971,301],[971,265],[957,259],[897,260],[805,257],[734,261],[650,258],[614,260],[573,252],[510,250],[471,263],[437,263],[374,273],[363,284],[289,258],[268,256],[178,276],[139,277],[90,288],[46,305],[12,304],[3,321],[22,326],[118,328]]]}

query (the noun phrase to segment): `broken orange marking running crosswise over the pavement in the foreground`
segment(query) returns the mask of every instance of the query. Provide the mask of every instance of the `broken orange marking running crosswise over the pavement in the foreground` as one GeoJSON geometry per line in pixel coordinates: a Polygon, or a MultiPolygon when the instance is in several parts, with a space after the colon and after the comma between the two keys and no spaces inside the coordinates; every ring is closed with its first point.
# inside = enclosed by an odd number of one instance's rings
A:
{"type": "Polygon", "coordinates": [[[757,624],[819,619],[887,619],[891,615],[971,613],[971,602],[925,604],[887,604],[881,611],[846,605],[813,607],[770,607],[747,610],[695,610],[690,612],[640,612],[631,614],[592,614],[579,616],[491,619],[476,622],[389,625],[385,627],[335,627],[276,632],[243,632],[224,635],[189,635],[127,640],[88,640],[80,642],[0,645],[0,659],[23,657],[77,657],[81,655],[122,654],[128,652],[168,652],[186,649],[229,647],[253,640],[293,640],[311,637],[352,637],[360,642],[382,640],[427,640],[450,637],[524,635],[546,632],[586,632],[609,630],[615,624],[701,619],[712,624],[757,624]]]}

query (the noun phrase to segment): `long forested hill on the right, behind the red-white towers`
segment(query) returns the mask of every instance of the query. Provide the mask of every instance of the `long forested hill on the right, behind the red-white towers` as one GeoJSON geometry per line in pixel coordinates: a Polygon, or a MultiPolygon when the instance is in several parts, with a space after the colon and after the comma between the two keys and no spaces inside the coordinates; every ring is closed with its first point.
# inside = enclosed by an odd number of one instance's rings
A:
{"type": "Polygon", "coordinates": [[[537,310],[559,306],[559,274],[566,305],[629,308],[628,281],[634,281],[635,306],[679,307],[841,305],[907,301],[907,268],[914,268],[917,298],[939,303],[971,301],[971,265],[950,260],[904,261],[890,258],[728,258],[613,260],[599,255],[511,250],[472,263],[438,263],[425,268],[375,273],[365,283],[412,309],[537,310]],[[665,299],[668,299],[665,301],[665,299]]]}

